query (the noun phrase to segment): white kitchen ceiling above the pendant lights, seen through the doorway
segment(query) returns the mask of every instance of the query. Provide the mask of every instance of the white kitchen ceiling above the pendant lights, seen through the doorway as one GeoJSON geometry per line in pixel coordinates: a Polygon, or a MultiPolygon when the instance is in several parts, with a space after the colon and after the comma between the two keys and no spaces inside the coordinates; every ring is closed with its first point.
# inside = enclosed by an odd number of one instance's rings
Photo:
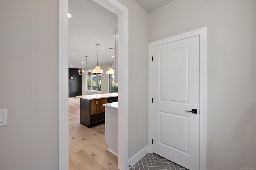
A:
{"type": "MultiPolygon", "coordinates": [[[[92,67],[110,63],[110,49],[114,48],[114,35],[110,32],[118,26],[118,16],[93,0],[69,0],[68,19],[68,65],[71,68],[92,67]],[[84,64],[82,63],[84,62],[84,64]],[[72,66],[70,66],[72,65],[72,66]]],[[[112,50],[112,54],[113,54],[112,50]]]]}

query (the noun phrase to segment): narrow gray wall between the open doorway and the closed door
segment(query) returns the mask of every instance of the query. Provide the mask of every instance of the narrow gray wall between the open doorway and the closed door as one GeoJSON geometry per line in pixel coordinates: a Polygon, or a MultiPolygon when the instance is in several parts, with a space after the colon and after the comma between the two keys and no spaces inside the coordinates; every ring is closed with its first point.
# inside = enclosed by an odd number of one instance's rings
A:
{"type": "Polygon", "coordinates": [[[128,158],[130,159],[148,146],[149,14],[134,0],[118,1],[129,10],[128,158]]]}

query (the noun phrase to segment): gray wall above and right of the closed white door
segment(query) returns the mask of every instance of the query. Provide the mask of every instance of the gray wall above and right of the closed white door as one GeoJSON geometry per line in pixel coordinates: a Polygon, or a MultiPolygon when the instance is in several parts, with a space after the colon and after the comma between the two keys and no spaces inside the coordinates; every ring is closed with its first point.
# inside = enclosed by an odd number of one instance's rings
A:
{"type": "Polygon", "coordinates": [[[176,0],[150,13],[150,42],[207,27],[208,170],[256,168],[255,4],[176,0]]]}

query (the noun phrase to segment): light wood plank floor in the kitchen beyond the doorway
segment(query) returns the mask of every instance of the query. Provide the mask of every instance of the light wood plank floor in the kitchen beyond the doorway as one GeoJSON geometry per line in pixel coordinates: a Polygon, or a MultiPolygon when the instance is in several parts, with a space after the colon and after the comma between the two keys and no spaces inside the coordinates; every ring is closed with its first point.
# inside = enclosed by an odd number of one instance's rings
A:
{"type": "Polygon", "coordinates": [[[118,170],[118,158],[107,150],[105,125],[80,125],[80,99],[69,98],[69,170],[118,170]]]}

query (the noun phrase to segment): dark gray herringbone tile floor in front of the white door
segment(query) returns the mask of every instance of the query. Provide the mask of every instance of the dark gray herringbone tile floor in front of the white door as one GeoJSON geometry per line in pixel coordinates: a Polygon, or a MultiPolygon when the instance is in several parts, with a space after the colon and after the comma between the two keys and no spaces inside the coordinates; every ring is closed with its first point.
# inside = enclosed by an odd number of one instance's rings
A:
{"type": "Polygon", "coordinates": [[[158,154],[147,153],[130,170],[188,170],[158,154]]]}

